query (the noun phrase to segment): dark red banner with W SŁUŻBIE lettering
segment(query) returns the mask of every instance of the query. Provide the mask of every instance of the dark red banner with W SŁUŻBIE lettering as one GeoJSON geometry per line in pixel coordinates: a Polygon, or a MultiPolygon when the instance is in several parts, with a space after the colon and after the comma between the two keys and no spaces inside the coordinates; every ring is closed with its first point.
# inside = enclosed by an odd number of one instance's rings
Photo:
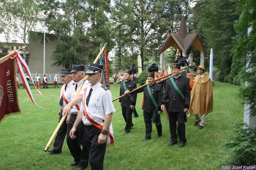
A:
{"type": "Polygon", "coordinates": [[[0,123],[5,116],[20,113],[14,62],[0,63],[0,123]]]}

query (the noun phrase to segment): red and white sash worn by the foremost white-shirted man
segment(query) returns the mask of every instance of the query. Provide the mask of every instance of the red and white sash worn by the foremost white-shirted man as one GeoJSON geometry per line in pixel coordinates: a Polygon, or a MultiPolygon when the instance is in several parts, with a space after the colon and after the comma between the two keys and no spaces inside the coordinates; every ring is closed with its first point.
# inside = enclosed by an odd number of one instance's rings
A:
{"type": "MultiPolygon", "coordinates": [[[[86,94],[87,88],[84,89],[84,94],[86,94]]],[[[101,129],[103,128],[104,122],[102,120],[98,119],[97,117],[94,117],[88,112],[88,107],[86,105],[86,95],[84,95],[84,116],[90,121],[91,124],[96,126],[97,128],[101,129]]],[[[114,132],[112,123],[109,125],[109,129],[107,132],[107,147],[114,146],[114,132]]]]}

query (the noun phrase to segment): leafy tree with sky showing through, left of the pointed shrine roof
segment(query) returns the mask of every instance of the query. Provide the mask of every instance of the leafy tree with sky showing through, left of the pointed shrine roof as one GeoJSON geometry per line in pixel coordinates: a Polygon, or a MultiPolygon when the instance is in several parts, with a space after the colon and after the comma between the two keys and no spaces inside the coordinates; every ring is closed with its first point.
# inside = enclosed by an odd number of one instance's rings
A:
{"type": "Polygon", "coordinates": [[[162,18],[162,5],[162,0],[128,1],[128,6],[132,7],[127,14],[129,47],[133,54],[139,53],[142,65],[147,54],[156,55],[164,40],[162,33],[168,23],[162,18]]]}

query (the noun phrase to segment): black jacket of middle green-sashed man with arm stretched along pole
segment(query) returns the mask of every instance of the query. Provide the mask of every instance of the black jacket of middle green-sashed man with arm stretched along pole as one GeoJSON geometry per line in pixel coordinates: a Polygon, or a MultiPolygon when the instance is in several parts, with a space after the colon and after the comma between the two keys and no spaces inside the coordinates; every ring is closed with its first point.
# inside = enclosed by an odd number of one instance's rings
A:
{"type": "MultiPolygon", "coordinates": [[[[163,96],[163,86],[160,84],[154,83],[150,86],[150,90],[158,106],[157,111],[162,111],[161,104],[162,104],[162,96],[163,96]]],[[[140,93],[142,91],[144,95],[143,106],[142,106],[143,111],[147,113],[154,112],[155,105],[151,100],[150,95],[147,92],[147,86],[134,91],[134,93],[140,93]]]]}

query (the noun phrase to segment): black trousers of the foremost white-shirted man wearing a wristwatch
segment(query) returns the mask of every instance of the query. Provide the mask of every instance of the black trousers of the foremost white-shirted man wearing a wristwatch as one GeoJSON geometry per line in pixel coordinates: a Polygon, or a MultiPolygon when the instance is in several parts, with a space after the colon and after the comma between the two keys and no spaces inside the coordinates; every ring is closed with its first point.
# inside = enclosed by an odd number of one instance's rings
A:
{"type": "Polygon", "coordinates": [[[86,148],[89,152],[89,163],[92,170],[103,170],[103,160],[106,152],[106,143],[99,145],[98,137],[101,130],[94,125],[85,125],[84,136],[86,148]]]}

